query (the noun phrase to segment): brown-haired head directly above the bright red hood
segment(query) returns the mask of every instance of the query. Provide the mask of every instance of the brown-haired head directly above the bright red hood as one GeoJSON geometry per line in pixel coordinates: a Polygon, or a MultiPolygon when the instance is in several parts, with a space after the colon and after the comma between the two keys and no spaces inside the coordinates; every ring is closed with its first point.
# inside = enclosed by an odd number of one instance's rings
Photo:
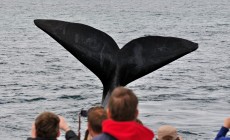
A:
{"type": "Polygon", "coordinates": [[[108,117],[115,121],[134,121],[137,118],[138,99],[132,90],[117,87],[108,102],[108,117]]]}

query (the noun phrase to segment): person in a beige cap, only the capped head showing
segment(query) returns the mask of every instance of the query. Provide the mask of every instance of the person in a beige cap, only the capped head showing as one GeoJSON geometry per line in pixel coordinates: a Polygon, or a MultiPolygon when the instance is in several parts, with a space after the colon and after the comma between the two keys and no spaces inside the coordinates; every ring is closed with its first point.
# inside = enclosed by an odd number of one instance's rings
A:
{"type": "Polygon", "coordinates": [[[157,140],[182,140],[181,136],[178,136],[177,130],[171,125],[162,125],[157,131],[157,140]]]}

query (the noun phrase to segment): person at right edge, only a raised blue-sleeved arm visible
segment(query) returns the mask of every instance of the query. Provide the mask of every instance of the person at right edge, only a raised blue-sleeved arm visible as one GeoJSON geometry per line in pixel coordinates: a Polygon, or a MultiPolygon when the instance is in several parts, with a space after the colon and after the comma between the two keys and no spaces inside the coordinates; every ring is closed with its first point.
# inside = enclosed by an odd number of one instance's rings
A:
{"type": "Polygon", "coordinates": [[[224,125],[220,128],[215,140],[230,140],[230,137],[226,137],[230,129],[230,117],[224,120],[224,125]]]}

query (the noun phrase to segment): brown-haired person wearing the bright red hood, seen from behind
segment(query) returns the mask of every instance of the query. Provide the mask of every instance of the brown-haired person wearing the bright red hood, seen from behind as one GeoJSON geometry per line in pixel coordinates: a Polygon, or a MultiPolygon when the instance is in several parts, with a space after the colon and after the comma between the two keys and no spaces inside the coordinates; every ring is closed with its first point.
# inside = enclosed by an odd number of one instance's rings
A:
{"type": "Polygon", "coordinates": [[[132,90],[117,87],[113,90],[106,109],[107,120],[102,123],[102,134],[93,140],[152,140],[154,133],[136,121],[138,99],[132,90]]]}

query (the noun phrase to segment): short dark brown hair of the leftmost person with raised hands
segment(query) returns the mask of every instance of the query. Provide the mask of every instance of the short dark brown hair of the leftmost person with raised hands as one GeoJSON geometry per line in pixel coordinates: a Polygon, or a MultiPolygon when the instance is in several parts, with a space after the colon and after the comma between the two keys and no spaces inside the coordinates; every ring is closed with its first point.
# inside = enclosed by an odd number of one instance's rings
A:
{"type": "Polygon", "coordinates": [[[35,120],[36,137],[56,138],[59,133],[58,115],[52,112],[43,112],[35,120]]]}

